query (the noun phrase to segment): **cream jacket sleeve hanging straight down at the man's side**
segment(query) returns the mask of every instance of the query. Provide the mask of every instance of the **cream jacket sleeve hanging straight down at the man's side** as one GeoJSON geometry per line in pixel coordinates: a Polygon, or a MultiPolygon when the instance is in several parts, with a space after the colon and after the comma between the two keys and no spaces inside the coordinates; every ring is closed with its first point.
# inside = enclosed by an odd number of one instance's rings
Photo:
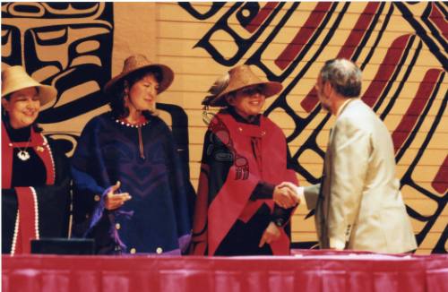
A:
{"type": "Polygon", "coordinates": [[[353,118],[340,116],[334,126],[330,151],[328,236],[331,243],[345,243],[358,218],[371,152],[370,133],[353,118]]]}

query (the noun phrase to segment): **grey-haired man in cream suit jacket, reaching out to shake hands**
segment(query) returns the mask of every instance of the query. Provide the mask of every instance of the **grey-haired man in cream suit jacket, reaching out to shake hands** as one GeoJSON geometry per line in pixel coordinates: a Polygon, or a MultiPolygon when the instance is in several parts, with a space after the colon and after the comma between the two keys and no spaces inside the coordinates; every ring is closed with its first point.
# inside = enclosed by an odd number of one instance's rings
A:
{"type": "Polygon", "coordinates": [[[327,61],[315,85],[336,116],[322,185],[294,188],[315,223],[321,248],[405,253],[417,248],[395,177],[392,138],[361,99],[361,71],[346,59],[327,61]]]}

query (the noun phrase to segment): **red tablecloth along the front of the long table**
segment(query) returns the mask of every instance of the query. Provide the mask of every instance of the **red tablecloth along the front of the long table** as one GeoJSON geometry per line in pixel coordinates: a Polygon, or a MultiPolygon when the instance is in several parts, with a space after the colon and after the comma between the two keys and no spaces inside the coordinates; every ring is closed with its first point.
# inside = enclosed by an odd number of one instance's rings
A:
{"type": "Polygon", "coordinates": [[[448,255],[3,256],[2,291],[448,291],[448,255]]]}

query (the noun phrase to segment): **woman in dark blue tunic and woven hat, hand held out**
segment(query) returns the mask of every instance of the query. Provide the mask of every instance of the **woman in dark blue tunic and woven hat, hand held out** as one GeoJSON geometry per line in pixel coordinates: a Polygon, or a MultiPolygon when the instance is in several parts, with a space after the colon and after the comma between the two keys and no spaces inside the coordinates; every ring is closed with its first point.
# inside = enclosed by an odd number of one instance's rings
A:
{"type": "Polygon", "coordinates": [[[75,232],[95,238],[98,253],[181,254],[189,244],[188,181],[155,115],[172,80],[166,65],[127,58],[105,86],[112,111],[82,131],[72,161],[75,232]]]}

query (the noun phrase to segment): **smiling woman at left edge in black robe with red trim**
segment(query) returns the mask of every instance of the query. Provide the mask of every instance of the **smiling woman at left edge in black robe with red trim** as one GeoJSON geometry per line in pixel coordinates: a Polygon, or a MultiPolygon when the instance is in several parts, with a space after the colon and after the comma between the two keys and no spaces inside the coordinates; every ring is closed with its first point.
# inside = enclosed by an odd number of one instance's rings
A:
{"type": "Polygon", "coordinates": [[[36,122],[56,95],[22,66],[2,72],[2,253],[30,253],[31,239],[68,236],[68,159],[36,122]]]}

